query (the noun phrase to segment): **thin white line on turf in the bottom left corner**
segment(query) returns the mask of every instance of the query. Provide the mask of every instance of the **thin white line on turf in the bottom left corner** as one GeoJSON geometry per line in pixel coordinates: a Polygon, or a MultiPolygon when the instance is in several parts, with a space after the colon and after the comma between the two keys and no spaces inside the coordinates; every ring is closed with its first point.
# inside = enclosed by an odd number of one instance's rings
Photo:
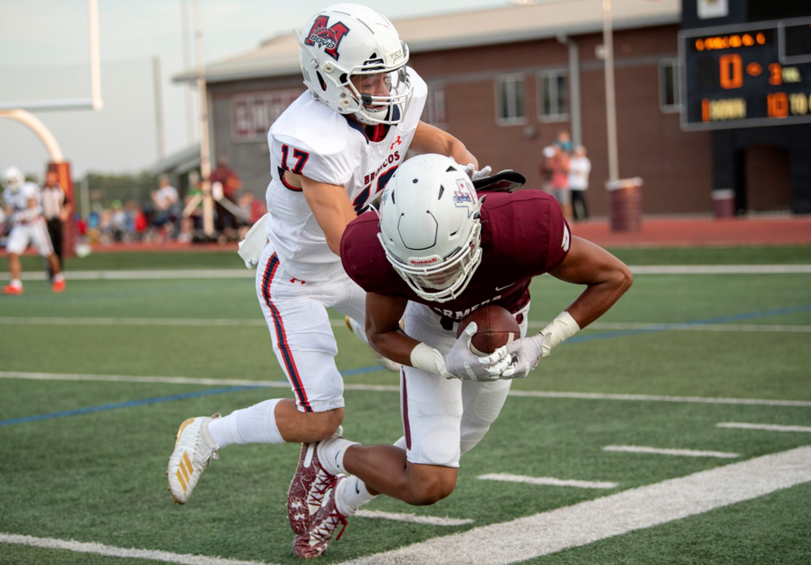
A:
{"type": "Polygon", "coordinates": [[[102,543],[88,543],[86,541],[58,540],[52,537],[20,536],[15,533],[0,533],[0,543],[14,543],[23,546],[44,547],[49,550],[68,550],[79,553],[92,553],[109,555],[111,557],[127,557],[130,559],[152,559],[165,563],[183,563],[184,565],[272,565],[264,561],[240,561],[238,559],[223,559],[221,557],[207,557],[206,555],[176,554],[159,550],[135,550],[125,547],[105,546],[102,543]]]}

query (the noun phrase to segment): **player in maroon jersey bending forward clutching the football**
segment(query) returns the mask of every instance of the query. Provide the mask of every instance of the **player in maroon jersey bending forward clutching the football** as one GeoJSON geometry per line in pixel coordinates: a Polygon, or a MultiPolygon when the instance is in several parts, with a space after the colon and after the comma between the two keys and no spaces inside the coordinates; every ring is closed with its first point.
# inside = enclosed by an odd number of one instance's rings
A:
{"type": "Polygon", "coordinates": [[[340,435],[319,443],[314,460],[336,477],[312,521],[311,540],[321,544],[358,507],[341,473],[372,494],[410,504],[448,496],[459,457],[487,433],[511,379],[526,377],[552,348],[603,315],[633,280],[619,259],[571,235],[547,193],[479,197],[464,168],[440,155],[401,165],[380,213],[347,226],[341,261],[367,291],[371,345],[402,365],[405,435],[395,445],[363,446],[340,435]],[[469,349],[475,323],[457,338],[457,323],[483,304],[513,312],[526,336],[530,281],[545,272],[586,289],[542,332],[483,357],[469,349]]]}

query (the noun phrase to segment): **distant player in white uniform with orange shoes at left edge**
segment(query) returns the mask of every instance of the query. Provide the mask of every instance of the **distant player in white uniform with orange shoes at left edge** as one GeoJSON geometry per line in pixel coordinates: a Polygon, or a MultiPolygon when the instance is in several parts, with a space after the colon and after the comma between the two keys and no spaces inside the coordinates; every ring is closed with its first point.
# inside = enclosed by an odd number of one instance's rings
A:
{"type": "Polygon", "coordinates": [[[36,246],[40,250],[40,255],[48,259],[51,272],[54,274],[54,293],[61,293],[65,289],[65,278],[59,268],[59,259],[54,253],[54,246],[51,245],[45,220],[42,219],[40,187],[33,182],[25,182],[23,172],[17,167],[6,169],[2,182],[5,187],[3,200],[6,201],[6,213],[11,216],[11,222],[14,224],[6,242],[11,283],[2,288],[2,293],[23,293],[23,283],[19,280],[22,272],[19,255],[29,243],[36,246]]]}

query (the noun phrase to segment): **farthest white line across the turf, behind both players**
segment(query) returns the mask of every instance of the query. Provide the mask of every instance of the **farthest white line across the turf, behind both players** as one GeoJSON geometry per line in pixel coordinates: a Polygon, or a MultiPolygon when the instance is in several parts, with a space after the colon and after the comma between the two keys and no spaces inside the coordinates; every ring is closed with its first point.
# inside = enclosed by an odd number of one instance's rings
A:
{"type": "MultiPolygon", "coordinates": [[[[748,275],[811,273],[811,265],[631,265],[634,275],[748,275]]],[[[67,280],[252,279],[253,269],[144,269],[66,271],[67,280]]],[[[42,272],[24,272],[23,280],[45,280],[42,272]]],[[[8,280],[8,276],[5,276],[8,280]]]]}

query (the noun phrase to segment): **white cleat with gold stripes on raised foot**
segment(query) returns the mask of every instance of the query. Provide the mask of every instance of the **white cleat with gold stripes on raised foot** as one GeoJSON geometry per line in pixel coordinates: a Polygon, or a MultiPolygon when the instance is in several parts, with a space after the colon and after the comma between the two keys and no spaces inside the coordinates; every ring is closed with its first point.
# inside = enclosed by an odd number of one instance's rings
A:
{"type": "Polygon", "coordinates": [[[169,492],[178,504],[188,502],[191,491],[200,481],[200,475],[211,466],[212,459],[217,459],[220,446],[208,434],[208,422],[217,417],[220,414],[189,418],[180,425],[178,434],[174,436],[177,441],[169,457],[166,474],[169,476],[169,492]]]}

